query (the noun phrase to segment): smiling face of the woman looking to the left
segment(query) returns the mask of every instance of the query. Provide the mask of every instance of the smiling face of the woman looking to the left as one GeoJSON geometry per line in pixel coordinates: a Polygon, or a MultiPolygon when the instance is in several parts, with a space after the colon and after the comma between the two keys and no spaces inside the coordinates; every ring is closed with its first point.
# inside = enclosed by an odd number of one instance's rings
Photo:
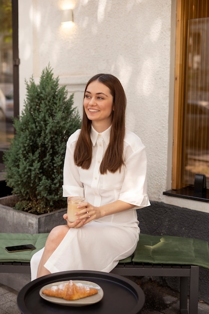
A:
{"type": "Polygon", "coordinates": [[[87,86],[83,105],[97,132],[103,132],[112,124],[113,96],[106,85],[99,81],[91,82],[87,86]]]}

